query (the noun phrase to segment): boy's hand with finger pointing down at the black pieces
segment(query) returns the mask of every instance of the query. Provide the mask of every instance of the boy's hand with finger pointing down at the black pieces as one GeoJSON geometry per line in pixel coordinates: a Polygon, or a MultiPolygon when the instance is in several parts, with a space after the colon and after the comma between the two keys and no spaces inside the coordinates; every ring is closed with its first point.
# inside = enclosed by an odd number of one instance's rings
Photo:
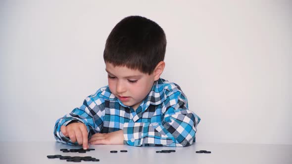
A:
{"type": "Polygon", "coordinates": [[[69,137],[71,141],[78,142],[79,145],[83,145],[83,149],[86,150],[88,146],[88,132],[84,123],[70,123],[67,126],[61,126],[61,132],[64,136],[69,137]]]}

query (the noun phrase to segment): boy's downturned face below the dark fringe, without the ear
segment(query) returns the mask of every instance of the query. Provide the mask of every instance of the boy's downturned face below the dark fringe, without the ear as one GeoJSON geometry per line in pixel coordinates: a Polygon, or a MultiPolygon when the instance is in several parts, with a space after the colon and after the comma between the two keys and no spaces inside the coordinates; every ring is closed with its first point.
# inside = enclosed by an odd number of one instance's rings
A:
{"type": "Polygon", "coordinates": [[[126,106],[136,110],[152,88],[157,76],[105,63],[110,91],[126,106]]]}

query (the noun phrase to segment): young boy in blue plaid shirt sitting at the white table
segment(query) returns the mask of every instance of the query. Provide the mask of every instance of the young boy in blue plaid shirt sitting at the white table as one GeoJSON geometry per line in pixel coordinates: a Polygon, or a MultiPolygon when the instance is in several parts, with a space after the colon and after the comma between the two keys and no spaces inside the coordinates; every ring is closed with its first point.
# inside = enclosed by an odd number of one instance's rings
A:
{"type": "Polygon", "coordinates": [[[189,146],[200,118],[188,110],[181,88],[160,79],[166,37],[141,16],[121,20],[109,34],[103,58],[108,85],[56,121],[58,142],[83,145],[189,146]]]}

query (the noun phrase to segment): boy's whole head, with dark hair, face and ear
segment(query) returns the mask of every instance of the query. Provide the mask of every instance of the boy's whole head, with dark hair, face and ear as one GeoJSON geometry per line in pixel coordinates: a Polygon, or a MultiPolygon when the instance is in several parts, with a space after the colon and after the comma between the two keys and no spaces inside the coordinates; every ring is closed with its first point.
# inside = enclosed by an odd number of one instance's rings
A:
{"type": "Polygon", "coordinates": [[[155,22],[141,17],[122,19],[109,34],[103,58],[110,91],[135,110],[160,78],[166,37],[155,22]]]}

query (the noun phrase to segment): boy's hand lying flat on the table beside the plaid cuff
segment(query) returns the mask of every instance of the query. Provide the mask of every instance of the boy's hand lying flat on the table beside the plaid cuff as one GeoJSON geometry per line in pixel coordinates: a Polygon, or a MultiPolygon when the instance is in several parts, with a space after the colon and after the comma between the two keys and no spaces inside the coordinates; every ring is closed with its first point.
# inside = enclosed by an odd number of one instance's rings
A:
{"type": "Polygon", "coordinates": [[[90,144],[122,145],[124,144],[123,130],[111,133],[96,133],[89,140],[90,144]]]}

